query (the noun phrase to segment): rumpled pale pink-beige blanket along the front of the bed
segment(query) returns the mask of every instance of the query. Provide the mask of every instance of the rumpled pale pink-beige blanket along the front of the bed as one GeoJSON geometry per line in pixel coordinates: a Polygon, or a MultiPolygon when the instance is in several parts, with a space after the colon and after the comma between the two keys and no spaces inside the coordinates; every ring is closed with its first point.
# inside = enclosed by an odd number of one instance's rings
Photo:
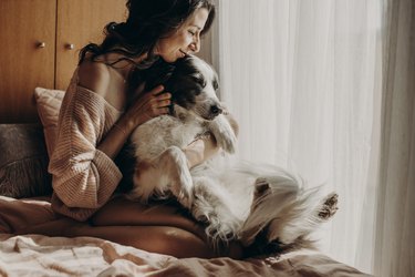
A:
{"type": "Polygon", "coordinates": [[[0,276],[369,276],[318,252],[279,258],[186,258],[107,240],[0,235],[0,276]]]}

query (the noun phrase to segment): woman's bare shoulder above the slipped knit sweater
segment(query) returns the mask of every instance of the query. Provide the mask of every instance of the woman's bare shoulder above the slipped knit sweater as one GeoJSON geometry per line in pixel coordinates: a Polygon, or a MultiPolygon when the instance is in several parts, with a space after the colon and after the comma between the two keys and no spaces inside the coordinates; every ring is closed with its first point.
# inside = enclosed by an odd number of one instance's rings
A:
{"type": "Polygon", "coordinates": [[[77,74],[81,86],[105,98],[111,81],[108,66],[105,63],[85,60],[80,64],[77,74]]]}

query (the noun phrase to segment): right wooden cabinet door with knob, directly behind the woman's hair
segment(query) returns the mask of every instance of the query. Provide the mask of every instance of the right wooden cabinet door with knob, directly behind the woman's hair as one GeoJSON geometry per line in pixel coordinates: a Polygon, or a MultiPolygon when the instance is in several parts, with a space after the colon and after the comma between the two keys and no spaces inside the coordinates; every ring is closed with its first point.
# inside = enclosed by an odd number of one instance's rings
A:
{"type": "Polygon", "coordinates": [[[58,0],[55,88],[65,90],[79,61],[79,52],[90,42],[101,43],[111,21],[126,18],[125,0],[58,0]],[[73,44],[74,49],[68,45],[73,44]]]}

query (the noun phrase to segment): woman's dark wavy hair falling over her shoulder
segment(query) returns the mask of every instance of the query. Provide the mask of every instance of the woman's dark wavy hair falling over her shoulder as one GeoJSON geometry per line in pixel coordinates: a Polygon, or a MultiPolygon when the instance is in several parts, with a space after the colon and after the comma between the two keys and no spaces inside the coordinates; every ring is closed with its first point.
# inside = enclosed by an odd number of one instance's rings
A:
{"type": "Polygon", "coordinates": [[[147,53],[144,61],[135,64],[137,69],[147,68],[157,58],[154,54],[157,41],[177,30],[196,10],[205,8],[209,12],[201,35],[210,29],[216,16],[212,0],[127,0],[126,7],[126,21],[110,22],[101,44],[90,43],[81,50],[80,63],[89,52],[92,60],[110,52],[124,55],[112,64],[147,53]]]}

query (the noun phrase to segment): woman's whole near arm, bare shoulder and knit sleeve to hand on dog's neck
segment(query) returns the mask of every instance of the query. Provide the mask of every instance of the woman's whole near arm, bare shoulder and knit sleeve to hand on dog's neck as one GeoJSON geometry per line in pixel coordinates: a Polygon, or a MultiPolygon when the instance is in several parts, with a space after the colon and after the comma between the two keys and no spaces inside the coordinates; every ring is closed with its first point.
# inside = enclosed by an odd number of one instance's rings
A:
{"type": "Polygon", "coordinates": [[[77,220],[85,220],[102,207],[118,185],[122,174],[113,160],[132,130],[166,113],[167,109],[160,106],[169,103],[165,100],[169,95],[160,100],[155,94],[162,89],[155,89],[137,99],[120,117],[118,125],[111,126],[114,114],[105,98],[124,106],[125,92],[120,83],[114,85],[106,65],[80,65],[77,82],[69,86],[62,102],[56,146],[49,166],[53,175],[53,208],[77,220]],[[117,89],[120,94],[106,95],[117,89]]]}

